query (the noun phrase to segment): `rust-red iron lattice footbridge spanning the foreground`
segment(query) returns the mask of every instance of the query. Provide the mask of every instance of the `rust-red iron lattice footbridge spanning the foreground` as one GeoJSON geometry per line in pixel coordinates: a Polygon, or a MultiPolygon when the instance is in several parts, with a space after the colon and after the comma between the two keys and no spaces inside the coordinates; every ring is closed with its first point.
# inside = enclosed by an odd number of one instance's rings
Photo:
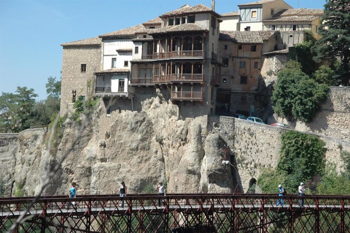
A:
{"type": "MultiPolygon", "coordinates": [[[[1,232],[25,213],[31,200],[22,197],[0,201],[1,232]]],[[[52,196],[39,198],[25,215],[26,221],[17,226],[25,232],[43,228],[45,232],[350,232],[350,196],[52,196]]]]}

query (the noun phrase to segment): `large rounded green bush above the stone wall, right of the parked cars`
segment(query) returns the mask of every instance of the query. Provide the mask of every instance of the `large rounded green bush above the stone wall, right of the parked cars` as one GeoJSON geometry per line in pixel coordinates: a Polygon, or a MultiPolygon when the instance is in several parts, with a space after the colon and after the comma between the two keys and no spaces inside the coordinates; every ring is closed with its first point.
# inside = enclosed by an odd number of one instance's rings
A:
{"type": "Polygon", "coordinates": [[[299,69],[298,62],[290,61],[286,66],[277,75],[271,98],[273,110],[278,115],[309,122],[327,98],[328,87],[310,79],[299,69]]]}

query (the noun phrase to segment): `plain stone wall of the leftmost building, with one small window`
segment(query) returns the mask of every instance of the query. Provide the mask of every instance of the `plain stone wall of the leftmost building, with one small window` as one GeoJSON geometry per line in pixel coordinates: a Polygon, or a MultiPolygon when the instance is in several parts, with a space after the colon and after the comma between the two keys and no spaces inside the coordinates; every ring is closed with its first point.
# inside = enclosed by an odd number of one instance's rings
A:
{"type": "Polygon", "coordinates": [[[94,72],[100,68],[100,46],[66,46],[63,47],[61,115],[67,112],[67,105],[72,103],[72,90],[86,96],[88,81],[90,87],[95,86],[94,72]],[[81,64],[86,64],[86,72],[81,72],[81,64]]]}

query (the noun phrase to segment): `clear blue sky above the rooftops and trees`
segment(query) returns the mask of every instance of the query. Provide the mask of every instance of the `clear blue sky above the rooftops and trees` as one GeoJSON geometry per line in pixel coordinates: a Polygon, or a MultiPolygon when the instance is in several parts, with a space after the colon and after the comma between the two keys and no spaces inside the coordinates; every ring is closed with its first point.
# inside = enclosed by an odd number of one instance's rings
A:
{"type": "MultiPolygon", "coordinates": [[[[216,0],[215,11],[236,11],[256,0],[216,0]]],[[[285,0],[293,8],[323,9],[326,0],[285,0]]],[[[146,22],[185,4],[211,0],[0,0],[0,92],[33,88],[46,98],[48,77],[61,77],[62,47],[146,22]]]]}

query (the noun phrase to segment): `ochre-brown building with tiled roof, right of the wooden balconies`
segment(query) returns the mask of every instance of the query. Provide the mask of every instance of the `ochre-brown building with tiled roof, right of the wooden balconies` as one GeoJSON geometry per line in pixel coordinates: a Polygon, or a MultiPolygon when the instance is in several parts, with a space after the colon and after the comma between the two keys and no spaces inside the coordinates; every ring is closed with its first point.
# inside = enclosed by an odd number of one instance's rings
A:
{"type": "Polygon", "coordinates": [[[258,90],[265,75],[261,70],[262,54],[282,51],[283,47],[279,31],[220,31],[223,68],[217,105],[229,103],[228,112],[254,116],[255,109],[260,107],[258,90]]]}

